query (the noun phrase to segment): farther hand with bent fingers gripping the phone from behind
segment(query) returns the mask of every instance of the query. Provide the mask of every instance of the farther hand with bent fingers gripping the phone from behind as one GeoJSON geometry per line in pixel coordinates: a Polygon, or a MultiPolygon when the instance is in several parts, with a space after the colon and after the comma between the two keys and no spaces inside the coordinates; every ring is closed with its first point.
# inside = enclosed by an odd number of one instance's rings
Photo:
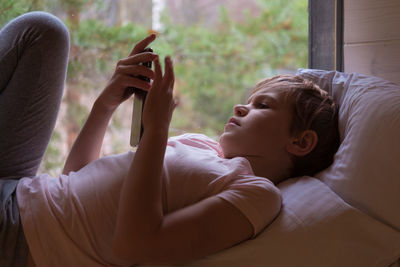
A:
{"type": "Polygon", "coordinates": [[[126,94],[127,87],[137,87],[142,90],[149,90],[150,82],[138,78],[139,75],[149,79],[154,78],[154,71],[140,65],[140,63],[154,61],[158,55],[151,52],[142,52],[156,38],[151,34],[135,45],[127,58],[121,59],[107,86],[97,98],[96,102],[107,110],[115,110],[122,102],[127,100],[131,94],[126,94]]]}

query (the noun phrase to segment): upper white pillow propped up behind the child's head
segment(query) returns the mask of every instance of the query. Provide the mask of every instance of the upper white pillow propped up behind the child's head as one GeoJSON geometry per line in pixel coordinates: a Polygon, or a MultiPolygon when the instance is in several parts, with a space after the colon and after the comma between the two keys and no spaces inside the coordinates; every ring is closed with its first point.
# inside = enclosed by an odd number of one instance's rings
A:
{"type": "Polygon", "coordinates": [[[350,205],[400,231],[400,86],[377,77],[300,69],[339,104],[341,146],[316,177],[350,205]]]}

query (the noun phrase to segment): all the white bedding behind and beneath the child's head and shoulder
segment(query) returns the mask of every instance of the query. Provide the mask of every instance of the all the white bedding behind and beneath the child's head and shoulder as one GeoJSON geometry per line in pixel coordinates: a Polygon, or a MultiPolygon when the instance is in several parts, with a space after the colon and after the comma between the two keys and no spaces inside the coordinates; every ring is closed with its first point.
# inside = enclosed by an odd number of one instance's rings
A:
{"type": "Polygon", "coordinates": [[[400,86],[358,73],[298,74],[340,105],[334,163],[279,184],[282,210],[258,237],[186,266],[400,266],[400,86]]]}

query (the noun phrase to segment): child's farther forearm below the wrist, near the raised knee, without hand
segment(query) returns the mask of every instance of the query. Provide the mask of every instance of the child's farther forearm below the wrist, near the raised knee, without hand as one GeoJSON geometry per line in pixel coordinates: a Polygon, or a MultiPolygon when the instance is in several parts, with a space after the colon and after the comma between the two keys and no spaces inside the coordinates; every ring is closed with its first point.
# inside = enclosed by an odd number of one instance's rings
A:
{"type": "Polygon", "coordinates": [[[63,174],[78,171],[100,155],[104,135],[113,110],[104,108],[97,101],[76,138],[64,165],[63,174]]]}

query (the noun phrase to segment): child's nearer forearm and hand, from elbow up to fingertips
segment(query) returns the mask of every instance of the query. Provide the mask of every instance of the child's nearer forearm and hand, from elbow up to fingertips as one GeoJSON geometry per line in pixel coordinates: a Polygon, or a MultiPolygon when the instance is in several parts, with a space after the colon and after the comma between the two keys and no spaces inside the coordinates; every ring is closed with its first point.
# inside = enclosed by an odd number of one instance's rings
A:
{"type": "Polygon", "coordinates": [[[144,133],[125,178],[118,206],[112,247],[122,258],[139,260],[156,248],[163,233],[162,174],[168,129],[175,103],[174,73],[170,58],[162,75],[154,60],[154,82],[143,110],[144,133]]]}

